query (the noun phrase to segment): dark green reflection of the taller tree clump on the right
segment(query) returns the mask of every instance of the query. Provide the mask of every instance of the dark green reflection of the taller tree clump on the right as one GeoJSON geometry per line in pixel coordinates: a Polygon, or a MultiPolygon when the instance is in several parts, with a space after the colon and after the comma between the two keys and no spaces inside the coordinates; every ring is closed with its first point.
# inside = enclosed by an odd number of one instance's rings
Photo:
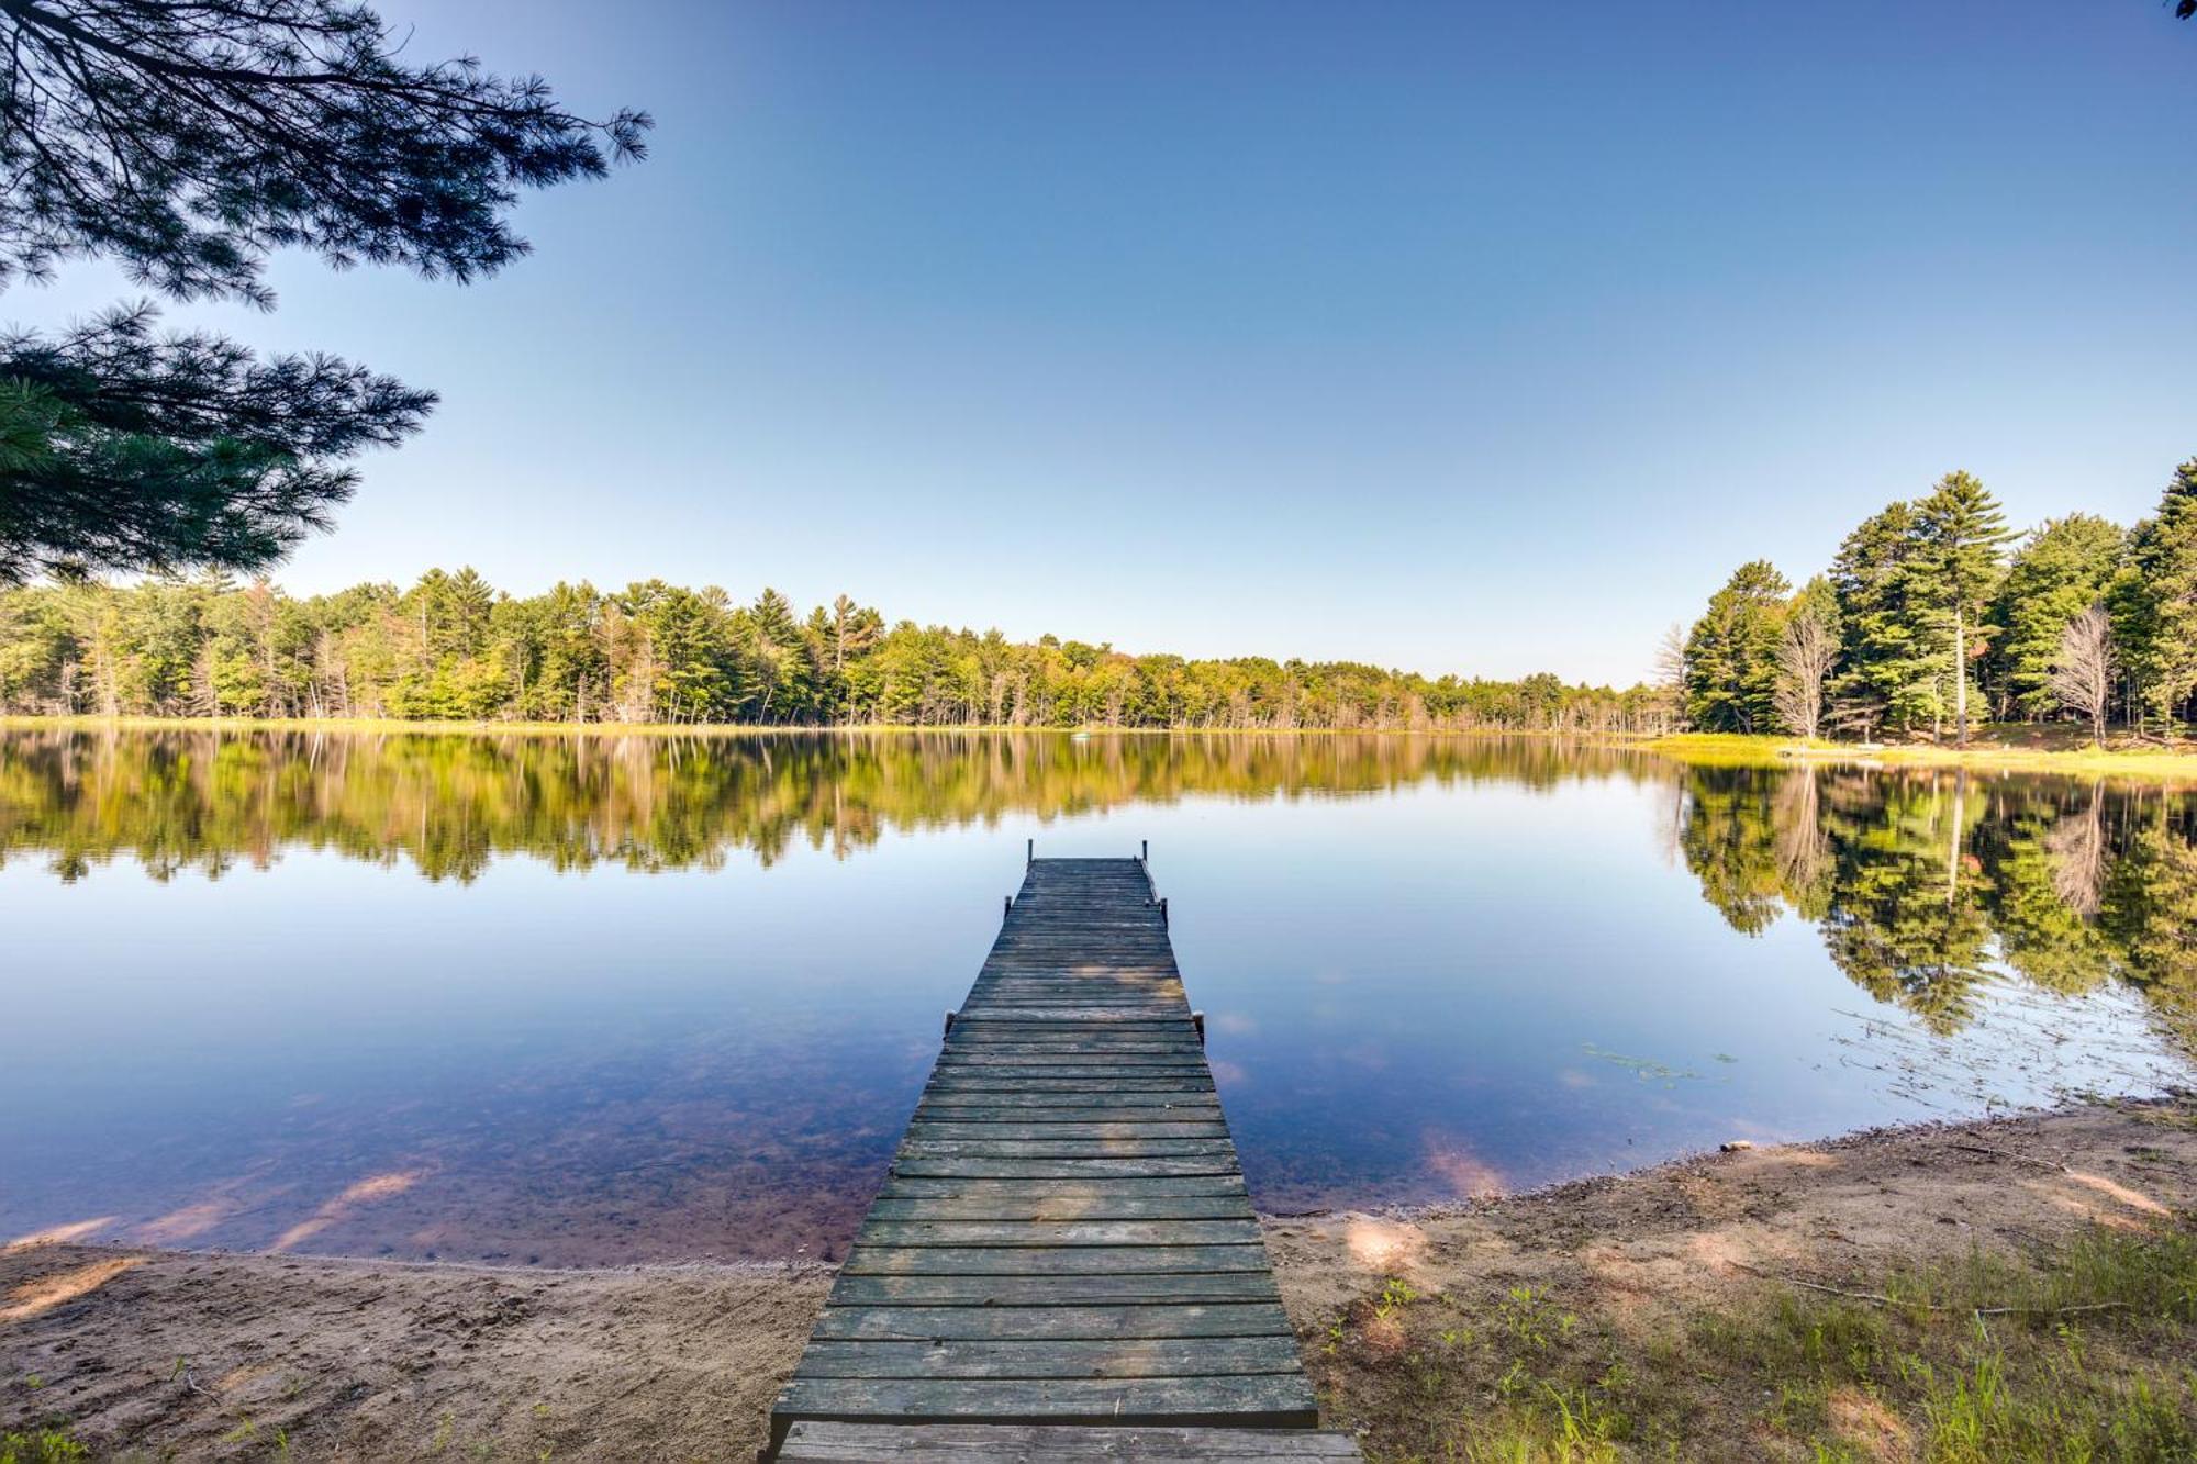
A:
{"type": "Polygon", "coordinates": [[[1960,1031],[1997,967],[2078,996],[2142,989],[2197,1040],[2197,813],[2059,778],[1696,767],[1679,846],[1758,934],[1793,910],[1870,996],[1960,1031]]]}

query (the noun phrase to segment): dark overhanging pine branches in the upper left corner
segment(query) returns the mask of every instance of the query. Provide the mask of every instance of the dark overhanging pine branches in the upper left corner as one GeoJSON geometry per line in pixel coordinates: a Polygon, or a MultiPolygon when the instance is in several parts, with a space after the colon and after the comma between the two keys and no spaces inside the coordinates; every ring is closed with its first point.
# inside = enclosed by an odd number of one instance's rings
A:
{"type": "MultiPolygon", "coordinates": [[[[0,288],[110,257],[174,299],[270,306],[277,248],[466,281],[525,253],[521,189],[637,158],[650,125],[415,64],[354,0],[0,0],[0,288]]],[[[349,457],[435,400],[152,321],[0,339],[0,580],[266,565],[349,497],[349,457]]]]}

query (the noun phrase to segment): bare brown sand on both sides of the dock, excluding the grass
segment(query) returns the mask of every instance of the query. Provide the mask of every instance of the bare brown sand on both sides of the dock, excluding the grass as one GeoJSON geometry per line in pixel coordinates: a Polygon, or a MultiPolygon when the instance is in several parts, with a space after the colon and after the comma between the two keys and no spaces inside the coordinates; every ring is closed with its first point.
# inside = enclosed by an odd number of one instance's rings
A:
{"type": "MultiPolygon", "coordinates": [[[[1316,1343],[1386,1277],[1490,1297],[1584,1288],[1646,1328],[1777,1277],[2021,1253],[2197,1207],[2193,1117],[2175,1099],[1885,1130],[1265,1233],[1323,1402],[1347,1422],[1375,1361],[1316,1343]]],[[[830,1277],[29,1240],[0,1251],[0,1431],[193,1460],[754,1460],[830,1277]]]]}

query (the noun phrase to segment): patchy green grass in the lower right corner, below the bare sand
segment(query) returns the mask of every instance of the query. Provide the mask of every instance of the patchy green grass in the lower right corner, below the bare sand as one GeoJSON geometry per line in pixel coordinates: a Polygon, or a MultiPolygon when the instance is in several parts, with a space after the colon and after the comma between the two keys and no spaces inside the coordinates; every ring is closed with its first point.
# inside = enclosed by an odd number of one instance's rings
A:
{"type": "Polygon", "coordinates": [[[1641,1334],[1595,1297],[1389,1286],[1314,1365],[1373,1460],[2197,1460],[2188,1218],[1850,1290],[1883,1301],[1762,1282],[1641,1334]]]}

